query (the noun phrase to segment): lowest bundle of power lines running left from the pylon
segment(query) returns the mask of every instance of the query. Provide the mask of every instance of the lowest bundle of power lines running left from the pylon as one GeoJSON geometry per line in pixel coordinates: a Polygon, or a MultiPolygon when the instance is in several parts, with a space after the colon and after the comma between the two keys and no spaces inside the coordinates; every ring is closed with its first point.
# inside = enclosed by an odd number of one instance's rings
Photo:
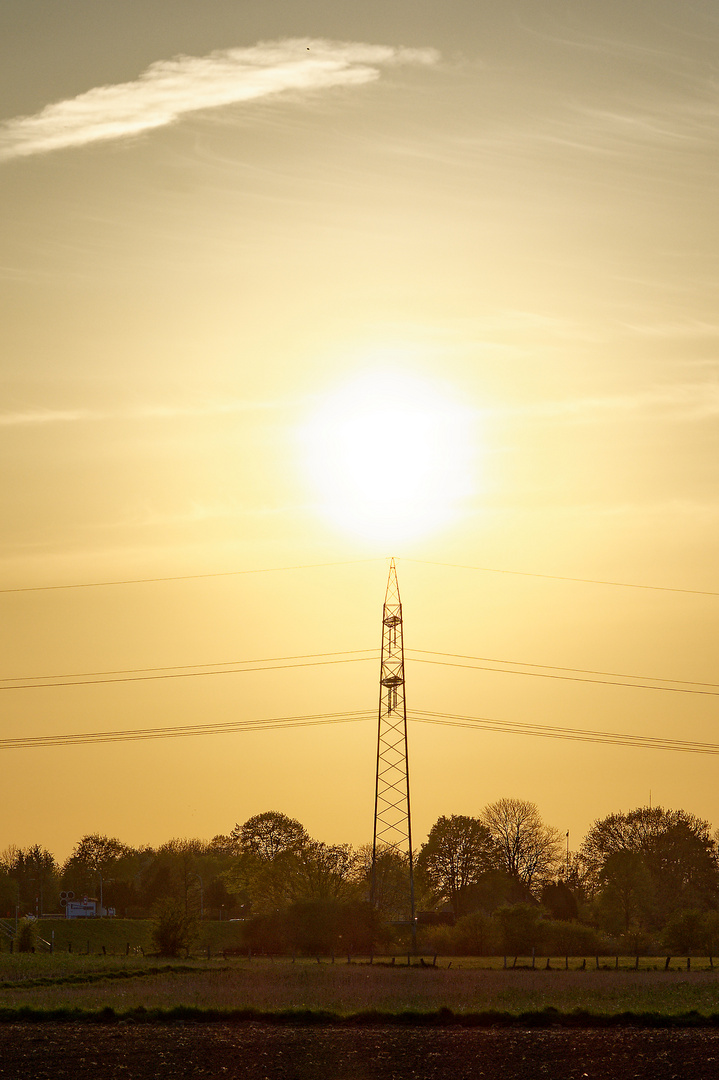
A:
{"type": "Polygon", "coordinates": [[[350,724],[374,717],[364,710],[314,713],[309,716],[272,716],[266,719],[230,720],[226,724],[186,724],[166,728],[130,728],[118,731],[89,731],[74,734],[28,735],[0,739],[0,750],[39,750],[52,746],[81,746],[89,743],[138,742],[148,739],[180,739],[190,735],[234,734],[242,731],[271,731],[322,724],[350,724]]]}

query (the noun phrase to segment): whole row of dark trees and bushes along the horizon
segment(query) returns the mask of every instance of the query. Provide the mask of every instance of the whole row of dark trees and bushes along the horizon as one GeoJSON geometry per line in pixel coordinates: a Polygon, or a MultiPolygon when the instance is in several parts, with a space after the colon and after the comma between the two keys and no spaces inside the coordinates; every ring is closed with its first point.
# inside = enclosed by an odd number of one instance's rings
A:
{"type": "MultiPolygon", "coordinates": [[[[533,802],[440,816],[413,854],[418,932],[442,953],[719,953],[719,848],[708,822],[639,807],[594,822],[579,849],[533,802]]],[[[0,917],[94,897],[121,918],[164,905],[235,919],[255,950],[361,953],[407,936],[408,859],[327,845],[277,811],[212,840],[133,848],[83,836],[62,865],[40,845],[0,854],[0,917]],[[370,895],[372,903],[370,904],[370,895]]]]}

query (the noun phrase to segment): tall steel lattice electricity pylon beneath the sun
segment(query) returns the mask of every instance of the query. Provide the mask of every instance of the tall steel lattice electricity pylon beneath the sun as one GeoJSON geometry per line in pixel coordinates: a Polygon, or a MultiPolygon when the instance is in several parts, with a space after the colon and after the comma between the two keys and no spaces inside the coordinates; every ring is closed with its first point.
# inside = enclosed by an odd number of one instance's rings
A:
{"type": "Polygon", "coordinates": [[[382,659],[380,666],[379,721],[377,728],[377,782],[372,836],[372,906],[377,903],[378,858],[398,854],[407,860],[406,921],[416,945],[415,869],[412,825],[409,807],[409,757],[407,753],[407,705],[405,701],[405,646],[402,600],[394,559],[390,563],[382,608],[382,659]]]}

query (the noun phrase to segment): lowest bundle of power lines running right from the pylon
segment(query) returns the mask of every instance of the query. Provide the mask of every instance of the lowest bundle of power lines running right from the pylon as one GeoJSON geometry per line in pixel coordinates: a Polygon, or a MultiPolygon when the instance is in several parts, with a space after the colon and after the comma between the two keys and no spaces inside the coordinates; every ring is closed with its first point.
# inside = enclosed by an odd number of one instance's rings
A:
{"type": "Polygon", "coordinates": [[[636,746],[643,750],[668,750],[684,754],[719,754],[719,744],[692,742],[684,739],[657,739],[651,735],[622,734],[616,731],[592,731],[583,728],[561,728],[544,724],[526,724],[521,720],[497,720],[488,716],[465,716],[452,713],[433,713],[412,710],[410,719],[419,724],[438,724],[445,727],[472,728],[498,734],[533,735],[539,739],[567,739],[572,742],[606,743],[614,746],[636,746]]]}

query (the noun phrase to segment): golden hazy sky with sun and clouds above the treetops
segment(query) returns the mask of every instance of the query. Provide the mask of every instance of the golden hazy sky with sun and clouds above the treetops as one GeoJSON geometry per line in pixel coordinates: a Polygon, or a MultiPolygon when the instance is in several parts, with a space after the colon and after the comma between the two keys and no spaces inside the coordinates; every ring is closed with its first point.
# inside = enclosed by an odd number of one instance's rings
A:
{"type": "Polygon", "coordinates": [[[718,44],[708,0],[4,0],[0,849],[370,839],[392,556],[417,843],[719,826],[713,754],[517,730],[719,741],[718,44]]]}

